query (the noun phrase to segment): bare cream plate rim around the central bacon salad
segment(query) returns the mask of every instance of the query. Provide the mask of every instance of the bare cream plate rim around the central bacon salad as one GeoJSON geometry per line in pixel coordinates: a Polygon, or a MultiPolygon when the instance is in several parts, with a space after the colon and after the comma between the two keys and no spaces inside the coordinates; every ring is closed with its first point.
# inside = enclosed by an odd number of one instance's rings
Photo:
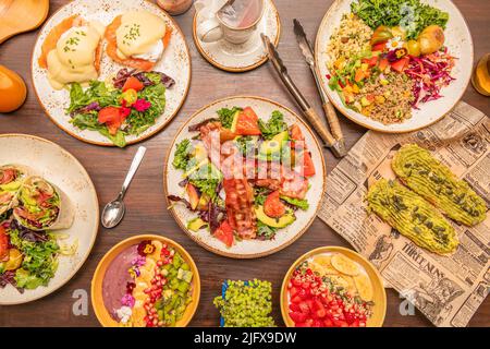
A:
{"type": "MultiPolygon", "coordinates": [[[[180,143],[184,139],[191,139],[196,135],[196,132],[188,132],[187,128],[191,124],[198,123],[205,119],[215,117],[217,110],[221,108],[232,107],[252,107],[257,116],[264,120],[268,120],[272,111],[279,110],[284,115],[284,121],[291,125],[297,123],[305,135],[308,149],[311,152],[311,158],[315,163],[316,174],[309,178],[310,189],[306,194],[306,200],[309,203],[309,209],[296,210],[296,220],[287,226],[278,230],[278,233],[273,240],[259,241],[259,240],[243,240],[237,241],[233,246],[226,248],[223,242],[212,237],[208,230],[201,229],[197,232],[191,231],[186,228],[186,222],[195,217],[195,214],[189,212],[184,205],[176,204],[171,208],[171,213],[176,219],[181,228],[198,244],[205,249],[215,252],[220,255],[224,255],[233,258],[256,258],[265,255],[278,252],[296,239],[298,239],[314,221],[326,185],[326,168],[323,155],[321,153],[320,144],[314,136],[313,131],[291,109],[281,106],[269,99],[260,97],[230,97],[221,100],[213,101],[212,104],[198,110],[188,121],[181,128],[177,135],[173,140],[169,154],[167,156],[167,163],[164,165],[163,184],[166,194],[182,195],[183,189],[179,186],[179,182],[182,181],[182,171],[175,170],[172,166],[174,156],[175,144],[180,143]]],[[[171,203],[168,202],[170,205],[171,203]]]]}

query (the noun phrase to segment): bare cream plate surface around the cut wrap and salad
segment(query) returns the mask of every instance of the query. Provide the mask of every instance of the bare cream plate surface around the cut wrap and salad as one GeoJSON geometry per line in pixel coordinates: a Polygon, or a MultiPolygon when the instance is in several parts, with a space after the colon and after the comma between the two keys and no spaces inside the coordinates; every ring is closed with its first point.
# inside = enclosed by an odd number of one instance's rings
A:
{"type": "Polygon", "coordinates": [[[28,166],[37,174],[59,186],[75,208],[72,227],[57,232],[69,234],[63,243],[77,241],[78,248],[73,256],[59,257],[58,270],[49,285],[25,290],[22,294],[11,285],[0,289],[0,305],[27,303],[56,291],[82,267],[97,237],[99,203],[85,168],[59,145],[27,134],[2,134],[0,148],[0,164],[28,166]]]}

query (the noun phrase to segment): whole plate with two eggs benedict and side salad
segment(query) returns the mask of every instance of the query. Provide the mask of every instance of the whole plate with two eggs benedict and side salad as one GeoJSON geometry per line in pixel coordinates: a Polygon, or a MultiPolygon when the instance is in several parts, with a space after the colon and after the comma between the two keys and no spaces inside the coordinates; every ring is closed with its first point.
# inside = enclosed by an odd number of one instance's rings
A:
{"type": "Polygon", "coordinates": [[[72,136],[124,147],[161,131],[183,105],[191,56],[172,17],[146,0],[81,0],[56,12],[33,51],[36,95],[72,136]]]}

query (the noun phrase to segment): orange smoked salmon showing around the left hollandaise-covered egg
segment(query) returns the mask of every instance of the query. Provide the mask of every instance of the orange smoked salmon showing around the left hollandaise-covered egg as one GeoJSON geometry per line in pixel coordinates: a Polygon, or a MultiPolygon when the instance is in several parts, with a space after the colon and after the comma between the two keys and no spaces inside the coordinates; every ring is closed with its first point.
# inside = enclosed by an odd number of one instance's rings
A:
{"type": "MultiPolygon", "coordinates": [[[[70,31],[74,26],[84,26],[86,25],[86,22],[84,19],[82,19],[79,15],[74,14],[72,16],[69,16],[60,22],[57,26],[54,26],[51,32],[46,36],[45,41],[41,46],[41,55],[38,58],[38,63],[40,68],[47,69],[48,68],[48,53],[57,48],[58,40],[60,37],[70,31]]],[[[102,58],[102,47],[101,47],[102,40],[99,41],[99,45],[97,46],[96,52],[95,52],[95,61],[94,65],[97,70],[97,72],[100,69],[100,59],[102,58]]]]}

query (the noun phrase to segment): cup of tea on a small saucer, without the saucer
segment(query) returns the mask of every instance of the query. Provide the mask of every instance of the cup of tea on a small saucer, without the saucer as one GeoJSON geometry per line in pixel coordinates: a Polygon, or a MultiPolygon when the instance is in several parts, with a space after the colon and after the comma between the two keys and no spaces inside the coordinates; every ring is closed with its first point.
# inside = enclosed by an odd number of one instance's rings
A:
{"type": "Polygon", "coordinates": [[[265,0],[229,0],[213,16],[198,24],[197,35],[205,43],[225,39],[244,44],[256,32],[264,12],[265,0]]]}

